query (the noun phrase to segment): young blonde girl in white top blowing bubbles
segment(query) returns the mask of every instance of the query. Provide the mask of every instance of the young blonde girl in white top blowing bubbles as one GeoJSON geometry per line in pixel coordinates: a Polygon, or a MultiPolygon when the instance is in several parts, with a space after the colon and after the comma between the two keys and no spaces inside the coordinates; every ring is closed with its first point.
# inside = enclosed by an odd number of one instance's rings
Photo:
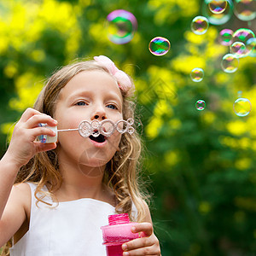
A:
{"type": "Polygon", "coordinates": [[[137,180],[136,131],[115,129],[109,137],[62,131],[56,143],[37,139],[56,136],[40,124],[58,130],[75,130],[84,120],[124,125],[119,120],[133,119],[133,89],[131,79],[101,55],[62,67],[22,114],[0,161],[0,247],[13,237],[11,256],[106,255],[101,227],[120,212],[138,222],[131,230],[140,234],[122,245],[123,255],[160,255],[137,180]]]}

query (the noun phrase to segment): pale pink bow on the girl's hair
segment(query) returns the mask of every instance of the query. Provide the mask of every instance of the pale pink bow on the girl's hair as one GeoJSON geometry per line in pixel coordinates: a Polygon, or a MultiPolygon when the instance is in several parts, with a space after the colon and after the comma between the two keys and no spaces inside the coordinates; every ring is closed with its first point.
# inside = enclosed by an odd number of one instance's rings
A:
{"type": "Polygon", "coordinates": [[[108,72],[111,73],[117,80],[120,90],[127,92],[131,89],[131,80],[127,74],[115,67],[113,61],[111,61],[108,57],[104,55],[95,56],[94,60],[101,63],[102,67],[106,67],[108,69],[108,72]]]}

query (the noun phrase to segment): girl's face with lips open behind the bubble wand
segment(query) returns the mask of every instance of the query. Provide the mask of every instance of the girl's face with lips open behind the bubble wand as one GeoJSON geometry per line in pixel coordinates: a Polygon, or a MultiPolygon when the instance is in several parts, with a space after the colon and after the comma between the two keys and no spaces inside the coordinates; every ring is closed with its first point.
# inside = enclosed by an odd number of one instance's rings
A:
{"type": "MultiPolygon", "coordinates": [[[[83,120],[123,119],[123,97],[116,81],[106,72],[93,70],[78,73],[61,90],[54,118],[58,129],[78,128],[83,120]]],[[[79,131],[58,134],[59,160],[83,166],[104,166],[119,148],[121,134],[96,142],[94,137],[81,137],[79,131]],[[62,158],[61,158],[62,157],[62,158]]]]}

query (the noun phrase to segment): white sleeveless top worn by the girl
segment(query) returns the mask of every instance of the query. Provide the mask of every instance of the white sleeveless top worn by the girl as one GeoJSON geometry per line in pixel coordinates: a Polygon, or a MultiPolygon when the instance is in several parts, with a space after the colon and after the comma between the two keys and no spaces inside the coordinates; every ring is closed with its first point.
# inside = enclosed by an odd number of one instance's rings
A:
{"type": "MultiPolygon", "coordinates": [[[[101,227],[108,225],[108,215],[115,214],[110,204],[90,198],[59,202],[49,207],[34,196],[37,187],[29,183],[32,205],[29,230],[10,248],[11,256],[104,256],[101,227]]],[[[50,198],[44,199],[53,203],[50,198]]],[[[132,206],[137,217],[137,209],[132,206]]]]}

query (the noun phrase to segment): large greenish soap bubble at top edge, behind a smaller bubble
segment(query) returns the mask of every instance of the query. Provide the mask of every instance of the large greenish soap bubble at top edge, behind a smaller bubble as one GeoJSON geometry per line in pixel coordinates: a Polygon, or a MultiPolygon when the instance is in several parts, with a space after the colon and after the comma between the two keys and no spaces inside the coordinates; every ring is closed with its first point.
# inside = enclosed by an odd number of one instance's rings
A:
{"type": "Polygon", "coordinates": [[[209,0],[205,0],[202,3],[202,14],[207,17],[212,25],[223,25],[230,20],[233,15],[233,3],[231,0],[227,0],[226,8],[222,13],[213,13],[208,6],[209,0]]]}

